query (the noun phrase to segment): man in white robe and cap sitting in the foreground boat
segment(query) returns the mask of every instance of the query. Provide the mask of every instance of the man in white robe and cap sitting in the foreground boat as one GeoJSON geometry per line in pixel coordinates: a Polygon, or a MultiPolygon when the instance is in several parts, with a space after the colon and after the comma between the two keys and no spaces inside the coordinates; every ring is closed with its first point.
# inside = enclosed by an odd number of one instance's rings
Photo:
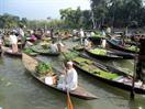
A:
{"type": "Polygon", "coordinates": [[[67,62],[66,64],[66,75],[62,76],[64,77],[62,81],[58,80],[58,88],[68,89],[68,90],[75,90],[78,86],[78,74],[76,69],[72,67],[72,62],[67,62]]]}

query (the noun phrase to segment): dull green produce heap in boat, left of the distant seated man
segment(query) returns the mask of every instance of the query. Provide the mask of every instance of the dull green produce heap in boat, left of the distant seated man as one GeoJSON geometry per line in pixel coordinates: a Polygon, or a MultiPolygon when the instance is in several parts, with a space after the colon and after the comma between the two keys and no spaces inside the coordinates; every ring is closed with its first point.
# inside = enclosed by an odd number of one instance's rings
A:
{"type": "Polygon", "coordinates": [[[49,53],[49,50],[48,48],[45,48],[44,46],[41,46],[41,45],[34,45],[31,48],[34,52],[37,52],[37,53],[49,53]]]}

